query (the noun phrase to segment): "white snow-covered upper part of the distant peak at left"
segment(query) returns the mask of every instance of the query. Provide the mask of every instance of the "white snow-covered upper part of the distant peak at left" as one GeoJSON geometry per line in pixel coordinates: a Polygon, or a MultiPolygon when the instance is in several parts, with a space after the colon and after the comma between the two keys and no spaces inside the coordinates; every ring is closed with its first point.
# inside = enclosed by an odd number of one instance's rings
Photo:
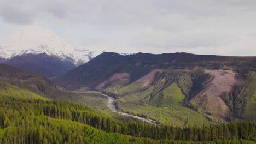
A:
{"type": "Polygon", "coordinates": [[[0,37],[0,58],[10,59],[18,55],[39,53],[57,56],[62,61],[73,60],[75,65],[79,65],[101,52],[82,49],[52,31],[37,26],[26,26],[13,34],[0,37]]]}

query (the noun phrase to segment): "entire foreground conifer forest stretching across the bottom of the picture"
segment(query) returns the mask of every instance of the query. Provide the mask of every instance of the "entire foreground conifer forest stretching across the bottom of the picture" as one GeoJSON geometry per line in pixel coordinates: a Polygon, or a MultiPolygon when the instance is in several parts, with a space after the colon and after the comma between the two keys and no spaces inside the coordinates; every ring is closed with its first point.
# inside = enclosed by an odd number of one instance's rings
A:
{"type": "Polygon", "coordinates": [[[173,140],[203,142],[216,139],[255,141],[256,124],[252,122],[181,128],[143,122],[121,123],[89,107],[68,101],[2,95],[0,105],[1,143],[108,143],[111,140],[116,143],[174,143],[173,140]],[[144,138],[133,137],[131,140],[121,134],[144,138]],[[102,142],[100,139],[104,136],[109,140],[102,142]],[[151,139],[145,139],[147,137],[151,139]]]}

